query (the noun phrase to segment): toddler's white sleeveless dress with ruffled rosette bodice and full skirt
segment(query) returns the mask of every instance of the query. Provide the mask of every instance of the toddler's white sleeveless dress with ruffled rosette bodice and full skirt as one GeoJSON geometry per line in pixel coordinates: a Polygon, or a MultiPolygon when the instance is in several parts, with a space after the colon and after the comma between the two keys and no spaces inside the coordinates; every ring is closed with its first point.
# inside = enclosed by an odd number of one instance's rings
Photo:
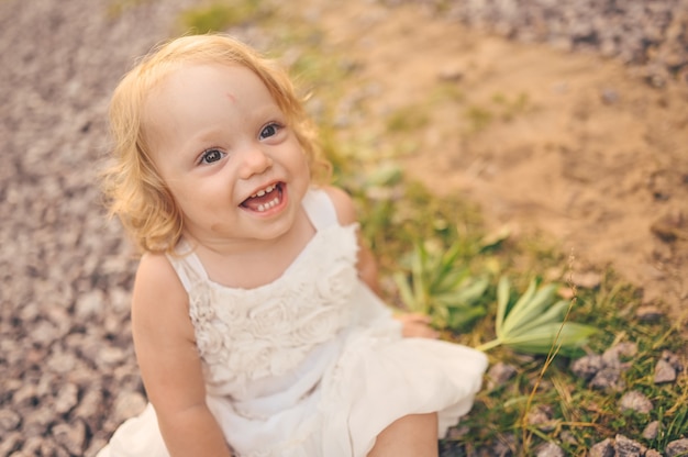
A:
{"type": "MultiPolygon", "coordinates": [[[[407,414],[439,412],[437,436],[473,405],[478,350],[402,338],[357,277],[356,230],[322,190],[303,208],[317,233],[281,277],[255,289],[212,282],[195,254],[169,257],[189,293],[208,406],[236,456],[364,457],[407,414]]],[[[167,457],[152,405],[99,457],[167,457]]]]}

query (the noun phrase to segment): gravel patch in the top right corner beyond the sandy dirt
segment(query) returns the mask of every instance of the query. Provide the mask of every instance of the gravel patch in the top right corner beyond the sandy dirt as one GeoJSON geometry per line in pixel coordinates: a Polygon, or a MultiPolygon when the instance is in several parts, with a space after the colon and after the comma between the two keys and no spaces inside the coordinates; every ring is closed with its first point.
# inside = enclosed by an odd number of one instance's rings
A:
{"type": "Polygon", "coordinates": [[[386,0],[426,3],[521,42],[618,58],[655,86],[688,82],[688,0],[386,0]]]}

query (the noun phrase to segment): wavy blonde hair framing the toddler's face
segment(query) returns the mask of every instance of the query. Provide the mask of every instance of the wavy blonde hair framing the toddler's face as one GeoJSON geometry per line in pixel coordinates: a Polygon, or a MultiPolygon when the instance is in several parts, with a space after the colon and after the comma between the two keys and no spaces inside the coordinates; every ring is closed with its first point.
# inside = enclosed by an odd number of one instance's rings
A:
{"type": "Polygon", "coordinates": [[[173,253],[181,237],[181,213],[156,170],[144,140],[144,105],[151,91],[186,64],[241,65],[255,73],[287,116],[317,183],[330,179],[331,166],[317,142],[315,129],[287,75],[273,60],[226,35],[195,35],[155,47],[121,80],[110,104],[113,164],[103,171],[103,192],[137,247],[173,253]]]}

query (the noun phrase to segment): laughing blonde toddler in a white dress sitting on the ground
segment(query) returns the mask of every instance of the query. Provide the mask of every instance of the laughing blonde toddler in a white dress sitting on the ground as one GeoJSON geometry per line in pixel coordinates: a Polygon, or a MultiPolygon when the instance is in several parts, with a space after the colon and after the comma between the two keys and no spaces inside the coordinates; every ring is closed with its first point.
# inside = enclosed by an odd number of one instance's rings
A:
{"type": "Polygon", "coordinates": [[[374,293],[286,73],[229,36],[177,38],[123,78],[110,121],[149,404],[99,456],[436,456],[486,357],[404,337],[423,323],[374,293]]]}

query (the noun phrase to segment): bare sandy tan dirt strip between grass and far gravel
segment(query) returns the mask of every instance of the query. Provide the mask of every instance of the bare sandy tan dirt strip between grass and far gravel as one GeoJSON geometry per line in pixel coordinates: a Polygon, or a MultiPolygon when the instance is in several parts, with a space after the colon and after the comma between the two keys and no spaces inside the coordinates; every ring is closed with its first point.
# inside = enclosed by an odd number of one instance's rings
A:
{"type": "MultiPolygon", "coordinates": [[[[376,88],[364,120],[426,112],[400,160],[437,193],[480,203],[493,227],[544,232],[582,268],[607,265],[644,302],[688,303],[688,87],[633,68],[468,30],[418,4],[320,7],[330,45],[376,88]]],[[[386,146],[385,136],[377,140],[386,146]]]]}

